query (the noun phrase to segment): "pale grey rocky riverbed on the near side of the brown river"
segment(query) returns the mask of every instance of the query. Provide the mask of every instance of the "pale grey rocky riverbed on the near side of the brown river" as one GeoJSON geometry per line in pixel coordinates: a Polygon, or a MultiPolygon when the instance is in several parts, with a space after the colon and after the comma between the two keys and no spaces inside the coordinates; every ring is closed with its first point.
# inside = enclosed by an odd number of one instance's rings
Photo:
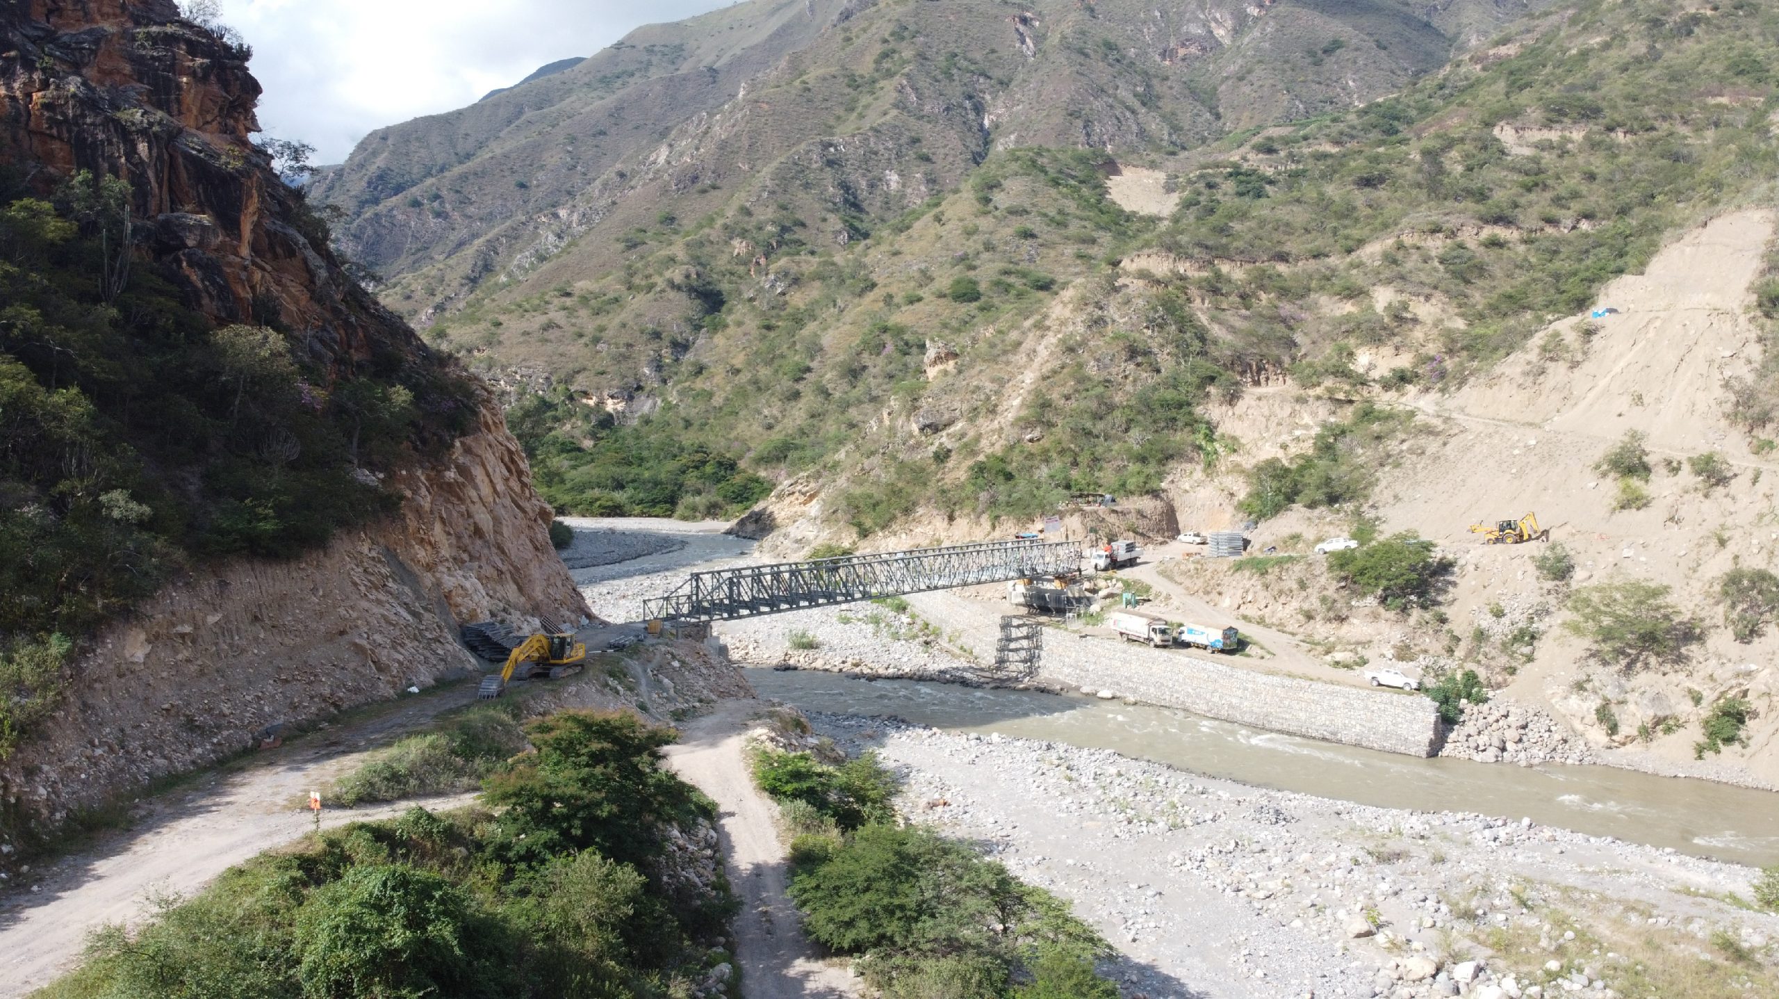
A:
{"type": "Polygon", "coordinates": [[[815,714],[1119,949],[1128,997],[1772,995],[1752,871],[1512,816],[1261,791],[1105,750],[815,714]]]}

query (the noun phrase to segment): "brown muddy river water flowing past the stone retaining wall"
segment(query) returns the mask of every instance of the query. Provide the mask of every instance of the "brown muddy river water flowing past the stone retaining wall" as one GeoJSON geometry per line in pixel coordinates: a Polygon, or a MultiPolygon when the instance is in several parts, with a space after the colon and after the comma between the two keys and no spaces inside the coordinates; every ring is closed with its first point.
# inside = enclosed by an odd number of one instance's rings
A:
{"type": "Polygon", "coordinates": [[[1163,707],[817,671],[747,670],[761,696],[804,711],[897,716],[954,732],[1000,732],[1324,798],[1388,808],[1530,817],[1589,835],[1779,864],[1779,794],[1605,766],[1519,768],[1414,759],[1260,732],[1163,707]]]}

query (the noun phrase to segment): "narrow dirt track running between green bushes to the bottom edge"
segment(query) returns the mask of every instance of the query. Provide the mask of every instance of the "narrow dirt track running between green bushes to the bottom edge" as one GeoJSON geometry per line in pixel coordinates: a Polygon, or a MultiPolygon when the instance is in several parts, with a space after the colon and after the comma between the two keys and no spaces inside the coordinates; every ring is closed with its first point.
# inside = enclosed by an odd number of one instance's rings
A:
{"type": "Polygon", "coordinates": [[[797,910],[785,896],[790,880],[779,842],[777,808],[754,789],[742,755],[747,721],[765,705],[731,700],[685,725],[667,748],[674,771],[717,801],[729,883],[742,899],[735,917],[737,960],[747,999],[841,999],[857,995],[857,979],[815,956],[797,910]]]}

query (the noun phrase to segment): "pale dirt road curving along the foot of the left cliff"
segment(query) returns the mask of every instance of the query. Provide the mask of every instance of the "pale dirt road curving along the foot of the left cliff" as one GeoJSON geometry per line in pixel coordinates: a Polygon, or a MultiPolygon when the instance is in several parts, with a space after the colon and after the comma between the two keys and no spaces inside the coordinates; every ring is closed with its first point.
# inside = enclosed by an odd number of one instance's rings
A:
{"type": "MultiPolygon", "coordinates": [[[[87,935],[132,922],[151,896],[190,894],[228,867],[302,837],[313,826],[302,800],[391,735],[466,703],[471,686],[415,698],[375,718],[306,735],[146,803],[133,828],[20,878],[0,896],[0,999],[25,995],[69,971],[87,935]]],[[[382,808],[324,810],[322,826],[381,819],[413,805],[452,808],[470,796],[402,801],[382,808]]]]}

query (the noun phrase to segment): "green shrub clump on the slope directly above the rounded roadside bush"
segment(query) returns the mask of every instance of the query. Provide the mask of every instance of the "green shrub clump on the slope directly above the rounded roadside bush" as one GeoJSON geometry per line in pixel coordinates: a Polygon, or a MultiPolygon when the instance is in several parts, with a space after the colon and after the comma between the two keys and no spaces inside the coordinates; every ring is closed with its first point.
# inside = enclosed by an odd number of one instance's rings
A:
{"type": "Polygon", "coordinates": [[[1359,502],[1372,495],[1377,451],[1402,435],[1413,415],[1361,402],[1347,420],[1324,424],[1309,451],[1284,461],[1268,458],[1247,472],[1242,513],[1268,518],[1290,506],[1327,508],[1359,502]]]}

